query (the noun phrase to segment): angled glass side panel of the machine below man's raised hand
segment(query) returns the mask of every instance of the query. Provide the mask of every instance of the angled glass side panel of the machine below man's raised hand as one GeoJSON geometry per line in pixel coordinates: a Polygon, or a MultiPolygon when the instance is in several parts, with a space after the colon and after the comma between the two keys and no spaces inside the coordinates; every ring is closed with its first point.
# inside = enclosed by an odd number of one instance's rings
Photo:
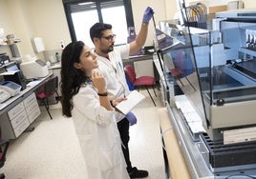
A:
{"type": "MultiPolygon", "coordinates": [[[[157,30],[163,70],[167,70],[176,79],[183,93],[193,101],[192,105],[205,119],[201,86],[203,90],[210,89],[209,79],[205,76],[210,73],[209,31],[193,29],[197,33],[190,34],[187,27],[182,27],[177,22],[179,21],[160,22],[157,30]],[[199,60],[195,58],[197,56],[199,60]],[[200,78],[203,80],[200,81],[200,78]]],[[[206,120],[204,123],[207,123],[206,120]]]]}

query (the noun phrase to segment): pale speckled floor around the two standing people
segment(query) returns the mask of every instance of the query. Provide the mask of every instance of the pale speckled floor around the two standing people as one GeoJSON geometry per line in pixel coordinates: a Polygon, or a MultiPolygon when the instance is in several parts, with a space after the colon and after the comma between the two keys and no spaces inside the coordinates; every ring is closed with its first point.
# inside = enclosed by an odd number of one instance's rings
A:
{"type": "MultiPolygon", "coordinates": [[[[147,179],[165,179],[157,109],[147,98],[134,109],[138,124],[130,129],[130,153],[134,166],[147,169],[147,179]]],[[[157,91],[159,93],[159,91],[157,91]]],[[[153,92],[152,92],[153,93],[153,92]]],[[[35,129],[11,141],[5,166],[7,179],[84,179],[86,170],[72,119],[61,115],[60,105],[52,106],[53,120],[41,107],[41,115],[32,123],[35,129]]]]}

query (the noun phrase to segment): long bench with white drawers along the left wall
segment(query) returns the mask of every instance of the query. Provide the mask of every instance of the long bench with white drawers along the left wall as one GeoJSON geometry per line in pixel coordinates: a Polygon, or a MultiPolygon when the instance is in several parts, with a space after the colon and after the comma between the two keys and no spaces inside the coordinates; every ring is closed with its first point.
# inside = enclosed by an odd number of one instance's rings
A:
{"type": "Polygon", "coordinates": [[[41,87],[53,75],[34,80],[27,84],[27,88],[0,104],[0,127],[2,139],[15,139],[28,129],[32,122],[40,115],[34,91],[41,87]]]}

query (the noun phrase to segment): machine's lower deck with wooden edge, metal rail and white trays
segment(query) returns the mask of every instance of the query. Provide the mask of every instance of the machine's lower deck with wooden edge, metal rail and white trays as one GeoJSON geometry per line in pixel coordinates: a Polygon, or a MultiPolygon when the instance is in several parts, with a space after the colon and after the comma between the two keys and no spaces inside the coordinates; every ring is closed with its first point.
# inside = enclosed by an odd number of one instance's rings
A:
{"type": "Polygon", "coordinates": [[[160,76],[160,99],[164,107],[160,109],[160,129],[163,151],[167,156],[165,157],[166,173],[169,173],[173,179],[225,179],[239,175],[242,178],[246,175],[255,176],[255,164],[241,165],[240,168],[237,166],[210,167],[207,162],[209,151],[203,148],[204,144],[199,140],[200,134],[205,133],[202,119],[186,95],[181,93],[174,78],[161,70],[164,66],[161,66],[158,57],[153,58],[154,66],[160,76]]]}

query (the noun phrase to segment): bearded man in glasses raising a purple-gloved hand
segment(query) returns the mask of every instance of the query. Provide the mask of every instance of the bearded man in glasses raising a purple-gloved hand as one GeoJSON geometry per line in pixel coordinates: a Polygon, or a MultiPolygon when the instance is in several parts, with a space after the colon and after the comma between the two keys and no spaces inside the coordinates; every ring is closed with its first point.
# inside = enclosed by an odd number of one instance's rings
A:
{"type": "MultiPolygon", "coordinates": [[[[90,29],[90,36],[96,47],[96,59],[98,70],[104,75],[109,94],[113,99],[120,96],[127,96],[129,89],[125,79],[122,59],[128,59],[130,54],[140,50],[146,41],[148,23],[153,17],[154,10],[148,7],[143,15],[141,29],[135,41],[130,44],[114,47],[116,35],[112,26],[104,23],[96,23],[90,29]]],[[[122,141],[122,151],[127,164],[127,171],[131,178],[144,178],[148,171],[132,167],[129,154],[128,142],[129,126],[137,122],[135,115],[129,112],[126,116],[116,112],[117,127],[122,141]]]]}

